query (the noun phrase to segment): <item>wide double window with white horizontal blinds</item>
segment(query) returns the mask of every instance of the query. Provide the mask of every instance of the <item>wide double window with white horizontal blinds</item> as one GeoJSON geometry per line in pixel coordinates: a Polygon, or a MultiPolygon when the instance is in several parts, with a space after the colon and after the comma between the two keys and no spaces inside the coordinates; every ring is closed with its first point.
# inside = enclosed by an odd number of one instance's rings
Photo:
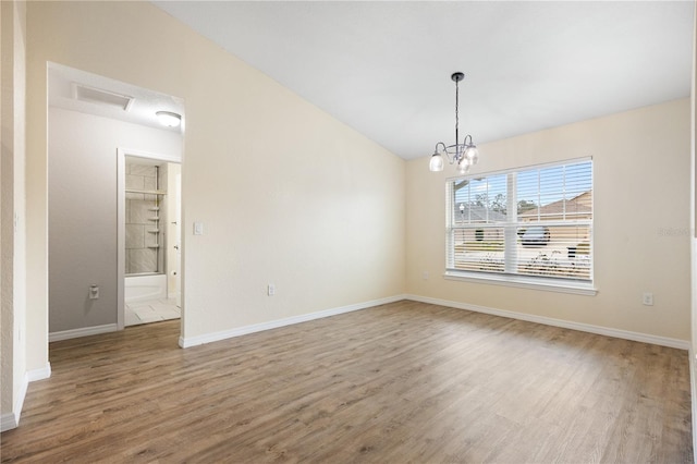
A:
{"type": "Polygon", "coordinates": [[[447,276],[592,286],[592,161],[449,180],[447,276]]]}

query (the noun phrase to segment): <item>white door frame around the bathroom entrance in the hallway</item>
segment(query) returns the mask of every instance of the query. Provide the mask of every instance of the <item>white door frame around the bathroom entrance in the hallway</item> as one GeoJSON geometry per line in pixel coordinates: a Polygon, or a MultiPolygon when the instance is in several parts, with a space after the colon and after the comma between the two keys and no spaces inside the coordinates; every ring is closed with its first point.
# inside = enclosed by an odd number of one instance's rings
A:
{"type": "MultiPolygon", "coordinates": [[[[131,148],[117,148],[117,330],[123,330],[125,328],[126,156],[175,162],[178,164],[182,163],[182,158],[178,156],[154,154],[131,148]]],[[[180,269],[180,273],[181,272],[182,270],[180,269]]]]}

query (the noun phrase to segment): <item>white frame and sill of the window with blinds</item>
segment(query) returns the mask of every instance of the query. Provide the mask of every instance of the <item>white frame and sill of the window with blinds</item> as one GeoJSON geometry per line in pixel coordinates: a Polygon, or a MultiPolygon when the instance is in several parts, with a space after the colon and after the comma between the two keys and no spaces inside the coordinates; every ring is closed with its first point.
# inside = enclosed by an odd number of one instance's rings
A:
{"type": "MultiPolygon", "coordinates": [[[[594,246],[594,218],[595,215],[591,215],[591,219],[589,220],[579,220],[579,221],[559,221],[559,222],[545,222],[546,225],[584,225],[589,228],[589,242],[590,242],[590,269],[588,280],[573,280],[573,279],[563,279],[563,278],[549,278],[542,276],[527,276],[516,273],[515,267],[517,267],[517,228],[521,225],[517,216],[517,198],[516,198],[516,178],[517,173],[536,170],[536,169],[547,169],[559,166],[574,164],[578,162],[591,162],[591,172],[590,172],[590,182],[591,190],[595,188],[594,185],[594,164],[592,158],[579,158],[579,159],[571,159],[564,160],[561,162],[554,163],[546,163],[546,164],[535,164],[528,167],[522,167],[516,169],[509,169],[503,171],[493,171],[488,173],[480,174],[469,174],[465,176],[457,178],[449,178],[445,181],[445,272],[443,277],[448,280],[457,280],[457,281],[466,281],[466,282],[477,282],[477,283],[487,283],[487,284],[497,284],[497,285],[506,285],[506,286],[515,286],[515,288],[524,288],[524,289],[538,289],[546,291],[555,291],[563,293],[574,293],[582,295],[595,295],[598,290],[595,286],[594,280],[594,262],[595,262],[595,246],[594,246]],[[452,186],[454,182],[463,181],[463,180],[475,180],[475,179],[485,179],[492,178],[494,175],[506,175],[506,221],[505,222],[494,222],[494,223],[482,223],[477,224],[478,229],[491,229],[491,228],[503,228],[504,230],[504,271],[503,272],[485,272],[485,271],[475,271],[475,270],[463,270],[455,269],[454,265],[454,242],[455,242],[455,230],[463,229],[462,227],[456,227],[456,213],[454,208],[454,193],[452,186]],[[513,174],[513,175],[511,175],[513,174]],[[513,193],[513,194],[511,194],[513,193]],[[512,211],[512,213],[511,213],[512,211]]],[[[591,197],[591,202],[595,204],[595,195],[591,197]]],[[[595,210],[594,206],[591,208],[595,210]]],[[[468,227],[467,229],[472,229],[468,227]]]]}

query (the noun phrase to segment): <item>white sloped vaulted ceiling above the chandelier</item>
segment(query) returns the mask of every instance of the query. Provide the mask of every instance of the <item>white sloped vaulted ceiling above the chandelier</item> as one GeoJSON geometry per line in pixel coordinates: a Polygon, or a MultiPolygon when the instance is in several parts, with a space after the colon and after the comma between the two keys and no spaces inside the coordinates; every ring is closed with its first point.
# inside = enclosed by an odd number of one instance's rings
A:
{"type": "Polygon", "coordinates": [[[405,159],[690,93],[692,1],[155,1],[405,159]]]}

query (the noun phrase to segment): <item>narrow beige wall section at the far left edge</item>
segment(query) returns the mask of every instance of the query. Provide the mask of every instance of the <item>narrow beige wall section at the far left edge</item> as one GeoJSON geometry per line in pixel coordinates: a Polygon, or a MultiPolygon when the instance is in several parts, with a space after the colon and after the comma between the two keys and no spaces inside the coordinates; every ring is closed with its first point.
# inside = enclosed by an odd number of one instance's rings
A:
{"type": "Polygon", "coordinates": [[[14,1],[0,5],[0,428],[3,430],[16,425],[26,388],[25,7],[14,1]]]}

